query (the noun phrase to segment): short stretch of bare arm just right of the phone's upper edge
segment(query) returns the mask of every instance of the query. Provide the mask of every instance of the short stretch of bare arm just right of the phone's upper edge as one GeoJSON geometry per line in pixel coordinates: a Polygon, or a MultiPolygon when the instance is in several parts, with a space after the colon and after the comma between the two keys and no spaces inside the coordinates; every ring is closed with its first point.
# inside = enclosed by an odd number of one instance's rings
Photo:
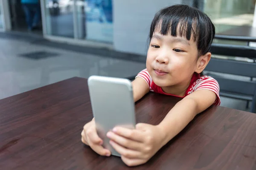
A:
{"type": "Polygon", "coordinates": [[[137,77],[132,82],[132,88],[133,88],[134,102],[137,102],[145,94],[147,94],[149,92],[149,87],[148,87],[147,82],[145,82],[145,80],[142,79],[141,77],[137,77]]]}

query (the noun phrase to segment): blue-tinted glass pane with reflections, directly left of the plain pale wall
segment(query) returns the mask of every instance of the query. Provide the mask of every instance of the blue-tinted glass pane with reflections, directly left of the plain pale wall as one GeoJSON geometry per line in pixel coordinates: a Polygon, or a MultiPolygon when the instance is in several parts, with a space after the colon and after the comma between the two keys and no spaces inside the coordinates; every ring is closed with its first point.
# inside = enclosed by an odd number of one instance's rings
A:
{"type": "Polygon", "coordinates": [[[79,39],[113,42],[112,0],[77,0],[79,39]]]}

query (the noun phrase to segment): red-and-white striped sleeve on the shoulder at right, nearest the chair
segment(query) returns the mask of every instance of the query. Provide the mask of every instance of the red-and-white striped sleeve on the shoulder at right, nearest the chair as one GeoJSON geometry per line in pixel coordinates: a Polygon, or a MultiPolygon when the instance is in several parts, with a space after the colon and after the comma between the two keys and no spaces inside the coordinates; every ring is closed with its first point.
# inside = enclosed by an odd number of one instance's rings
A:
{"type": "Polygon", "coordinates": [[[220,95],[219,95],[220,86],[214,78],[209,77],[209,76],[204,76],[203,79],[198,81],[197,84],[195,85],[195,91],[201,90],[201,89],[206,89],[206,90],[212,91],[216,94],[216,100],[213,103],[213,105],[221,104],[221,99],[220,99],[220,95]]]}

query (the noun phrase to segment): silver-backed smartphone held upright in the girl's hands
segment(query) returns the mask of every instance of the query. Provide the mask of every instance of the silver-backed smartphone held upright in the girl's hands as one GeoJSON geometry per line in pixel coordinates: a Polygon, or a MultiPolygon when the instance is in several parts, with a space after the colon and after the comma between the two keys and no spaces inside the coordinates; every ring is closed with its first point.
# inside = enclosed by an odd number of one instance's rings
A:
{"type": "Polygon", "coordinates": [[[122,78],[91,76],[88,79],[90,101],[96,130],[103,147],[120,156],[106,136],[115,126],[135,128],[135,107],[131,81],[122,78]]]}

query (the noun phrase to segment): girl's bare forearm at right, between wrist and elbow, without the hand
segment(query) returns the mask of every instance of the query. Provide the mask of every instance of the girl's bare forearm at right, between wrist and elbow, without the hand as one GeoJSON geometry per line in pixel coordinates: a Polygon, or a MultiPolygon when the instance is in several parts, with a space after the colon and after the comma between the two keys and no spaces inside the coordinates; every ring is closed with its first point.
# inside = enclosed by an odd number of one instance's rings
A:
{"type": "Polygon", "coordinates": [[[198,113],[198,107],[193,99],[183,99],[157,125],[163,132],[162,146],[175,137],[198,113]]]}

